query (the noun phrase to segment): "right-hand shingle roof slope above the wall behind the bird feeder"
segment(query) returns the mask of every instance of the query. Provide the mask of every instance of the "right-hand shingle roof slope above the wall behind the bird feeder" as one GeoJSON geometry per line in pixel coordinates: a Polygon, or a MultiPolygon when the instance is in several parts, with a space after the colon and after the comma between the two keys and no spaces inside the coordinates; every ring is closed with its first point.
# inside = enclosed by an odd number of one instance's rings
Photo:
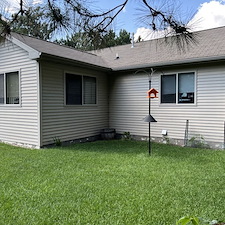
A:
{"type": "Polygon", "coordinates": [[[194,36],[197,43],[188,45],[185,51],[161,38],[135,43],[133,48],[129,44],[93,53],[101,56],[113,70],[225,59],[225,27],[195,32],[194,36]]]}

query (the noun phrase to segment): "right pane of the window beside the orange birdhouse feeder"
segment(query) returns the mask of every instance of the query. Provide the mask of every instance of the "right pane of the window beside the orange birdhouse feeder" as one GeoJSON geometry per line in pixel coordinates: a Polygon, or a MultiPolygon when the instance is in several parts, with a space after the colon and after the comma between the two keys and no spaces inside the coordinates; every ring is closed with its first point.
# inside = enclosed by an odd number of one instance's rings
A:
{"type": "Polygon", "coordinates": [[[178,76],[178,103],[194,103],[195,75],[194,73],[182,73],[178,76]]]}

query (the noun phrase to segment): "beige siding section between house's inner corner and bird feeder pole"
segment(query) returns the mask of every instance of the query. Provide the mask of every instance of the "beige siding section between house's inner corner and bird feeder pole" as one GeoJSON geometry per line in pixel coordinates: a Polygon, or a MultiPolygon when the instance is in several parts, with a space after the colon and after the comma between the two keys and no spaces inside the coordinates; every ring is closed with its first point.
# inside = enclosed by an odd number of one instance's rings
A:
{"type": "Polygon", "coordinates": [[[110,82],[109,125],[117,133],[125,131],[144,135],[147,124],[142,119],[148,113],[147,75],[114,75],[110,82]]]}

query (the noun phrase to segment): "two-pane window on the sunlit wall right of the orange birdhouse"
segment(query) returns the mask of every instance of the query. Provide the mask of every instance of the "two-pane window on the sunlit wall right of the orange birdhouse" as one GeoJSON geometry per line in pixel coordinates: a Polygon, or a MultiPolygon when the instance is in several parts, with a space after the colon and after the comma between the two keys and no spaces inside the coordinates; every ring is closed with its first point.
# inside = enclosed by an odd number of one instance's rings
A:
{"type": "Polygon", "coordinates": [[[195,73],[162,75],[161,103],[193,104],[195,73]]]}

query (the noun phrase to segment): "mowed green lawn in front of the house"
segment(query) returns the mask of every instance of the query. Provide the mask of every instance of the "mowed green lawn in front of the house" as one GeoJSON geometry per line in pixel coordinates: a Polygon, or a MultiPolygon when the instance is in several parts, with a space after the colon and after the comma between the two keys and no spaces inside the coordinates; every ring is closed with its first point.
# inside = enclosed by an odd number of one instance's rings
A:
{"type": "Polygon", "coordinates": [[[0,224],[225,221],[225,151],[137,141],[29,150],[0,144],[0,224]]]}

